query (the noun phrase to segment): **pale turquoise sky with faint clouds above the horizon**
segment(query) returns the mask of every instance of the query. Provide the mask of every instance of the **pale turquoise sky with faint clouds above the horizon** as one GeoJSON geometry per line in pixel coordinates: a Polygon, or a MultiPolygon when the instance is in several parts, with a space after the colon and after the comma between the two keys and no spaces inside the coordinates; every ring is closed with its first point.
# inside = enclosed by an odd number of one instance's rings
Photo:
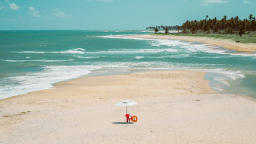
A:
{"type": "Polygon", "coordinates": [[[0,30],[145,30],[256,16],[256,0],[0,0],[0,30]]]}

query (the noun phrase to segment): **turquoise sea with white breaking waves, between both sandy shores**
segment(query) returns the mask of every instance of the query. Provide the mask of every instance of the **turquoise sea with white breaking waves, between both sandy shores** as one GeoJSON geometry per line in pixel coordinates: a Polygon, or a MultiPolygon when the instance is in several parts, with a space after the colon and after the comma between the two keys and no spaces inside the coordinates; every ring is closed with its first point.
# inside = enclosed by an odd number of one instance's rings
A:
{"type": "Polygon", "coordinates": [[[150,30],[0,31],[0,99],[90,75],[206,72],[220,93],[256,98],[256,53],[181,40],[126,37],[150,30]],[[122,37],[120,37],[122,36],[122,37]]]}

